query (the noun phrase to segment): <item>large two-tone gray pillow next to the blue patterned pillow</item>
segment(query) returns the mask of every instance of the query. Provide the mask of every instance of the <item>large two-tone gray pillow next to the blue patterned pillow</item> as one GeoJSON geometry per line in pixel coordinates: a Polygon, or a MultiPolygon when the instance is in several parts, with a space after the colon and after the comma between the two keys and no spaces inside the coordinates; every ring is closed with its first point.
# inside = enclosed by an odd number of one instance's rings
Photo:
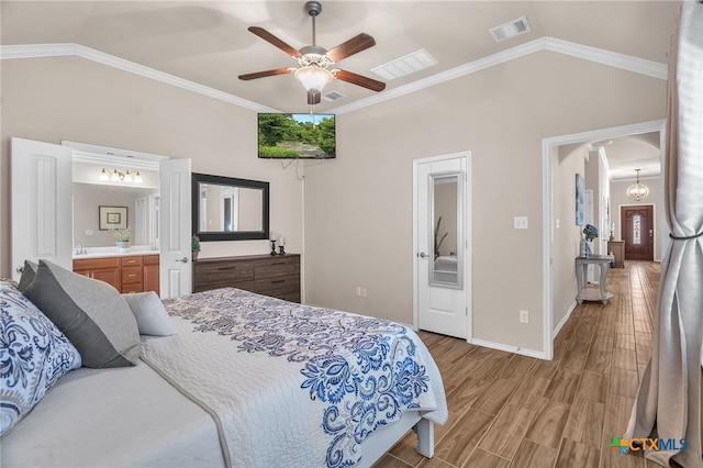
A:
{"type": "Polygon", "coordinates": [[[136,320],[110,285],[40,260],[26,296],[76,346],[83,366],[135,366],[140,358],[136,320]]]}

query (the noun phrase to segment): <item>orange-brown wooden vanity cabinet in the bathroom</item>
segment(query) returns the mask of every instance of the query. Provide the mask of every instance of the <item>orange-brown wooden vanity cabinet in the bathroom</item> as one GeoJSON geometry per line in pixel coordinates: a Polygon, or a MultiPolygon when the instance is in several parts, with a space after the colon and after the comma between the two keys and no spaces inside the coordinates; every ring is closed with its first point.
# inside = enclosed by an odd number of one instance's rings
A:
{"type": "Polygon", "coordinates": [[[158,255],[74,259],[74,271],[112,285],[120,292],[159,293],[158,255]]]}

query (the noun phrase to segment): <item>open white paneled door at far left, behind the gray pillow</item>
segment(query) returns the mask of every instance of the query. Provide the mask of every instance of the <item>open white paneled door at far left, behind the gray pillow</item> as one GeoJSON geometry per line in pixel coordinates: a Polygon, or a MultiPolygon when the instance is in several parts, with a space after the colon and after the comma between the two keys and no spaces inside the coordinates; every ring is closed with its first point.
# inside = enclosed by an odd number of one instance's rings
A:
{"type": "Polygon", "coordinates": [[[25,259],[72,270],[69,147],[12,138],[12,277],[25,259]]]}

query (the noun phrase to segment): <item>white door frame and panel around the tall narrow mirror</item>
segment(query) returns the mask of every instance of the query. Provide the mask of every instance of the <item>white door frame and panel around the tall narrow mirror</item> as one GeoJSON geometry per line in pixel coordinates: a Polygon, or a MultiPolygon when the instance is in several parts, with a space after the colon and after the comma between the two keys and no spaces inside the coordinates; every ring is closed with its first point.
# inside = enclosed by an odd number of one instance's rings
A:
{"type": "Polygon", "coordinates": [[[471,261],[470,261],[470,153],[415,159],[413,161],[413,309],[416,328],[465,339],[471,337],[471,261]],[[443,287],[431,281],[434,263],[434,220],[431,207],[433,175],[460,172],[461,210],[458,226],[457,258],[462,267],[458,287],[443,287]],[[424,255],[423,255],[424,254],[424,255]]]}

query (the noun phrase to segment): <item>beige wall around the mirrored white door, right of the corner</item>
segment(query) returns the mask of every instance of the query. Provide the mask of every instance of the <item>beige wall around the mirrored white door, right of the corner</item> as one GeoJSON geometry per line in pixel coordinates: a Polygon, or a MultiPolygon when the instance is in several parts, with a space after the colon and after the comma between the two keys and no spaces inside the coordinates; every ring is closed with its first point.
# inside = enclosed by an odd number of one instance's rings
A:
{"type": "Polygon", "coordinates": [[[543,52],[341,115],[354,134],[305,171],[308,300],[411,323],[412,160],[471,151],[475,337],[543,350],[542,141],[661,119],[665,92],[662,80],[543,52]],[[515,215],[529,229],[514,230],[515,215]]]}

